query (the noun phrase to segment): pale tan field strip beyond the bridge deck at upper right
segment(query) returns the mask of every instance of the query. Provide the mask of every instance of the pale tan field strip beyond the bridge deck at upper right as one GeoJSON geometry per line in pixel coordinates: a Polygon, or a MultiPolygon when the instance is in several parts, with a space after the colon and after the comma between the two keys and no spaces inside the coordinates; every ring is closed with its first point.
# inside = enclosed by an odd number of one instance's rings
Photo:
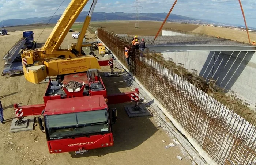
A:
{"type": "MultiPolygon", "coordinates": [[[[212,27],[212,26],[200,26],[192,32],[207,34],[212,36],[219,36],[221,38],[232,39],[234,41],[240,41],[249,43],[246,31],[234,30],[230,28],[223,27],[212,27]]],[[[256,32],[249,32],[249,36],[252,41],[256,40],[256,32]]]]}

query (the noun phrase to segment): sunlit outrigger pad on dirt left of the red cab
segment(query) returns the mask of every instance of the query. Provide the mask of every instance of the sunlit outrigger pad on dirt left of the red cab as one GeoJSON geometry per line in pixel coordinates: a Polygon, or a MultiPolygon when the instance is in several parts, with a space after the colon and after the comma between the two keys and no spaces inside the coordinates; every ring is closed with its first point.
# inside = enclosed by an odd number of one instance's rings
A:
{"type": "Polygon", "coordinates": [[[16,118],[12,120],[9,133],[33,130],[35,117],[16,118]]]}

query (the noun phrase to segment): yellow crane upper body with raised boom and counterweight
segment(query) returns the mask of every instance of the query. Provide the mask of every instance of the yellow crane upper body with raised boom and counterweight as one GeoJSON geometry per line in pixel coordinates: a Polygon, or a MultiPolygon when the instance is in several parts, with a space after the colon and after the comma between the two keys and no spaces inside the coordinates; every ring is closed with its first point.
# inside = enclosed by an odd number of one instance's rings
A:
{"type": "Polygon", "coordinates": [[[41,49],[32,49],[23,52],[22,62],[26,80],[38,84],[47,76],[85,72],[90,68],[100,69],[94,54],[90,54],[87,51],[92,45],[83,44],[83,37],[81,37],[86,33],[97,0],[93,0],[91,4],[77,43],[72,44],[71,49],[59,49],[72,24],[78,18],[78,15],[88,1],[71,0],[45,42],[45,45],[41,49]]]}

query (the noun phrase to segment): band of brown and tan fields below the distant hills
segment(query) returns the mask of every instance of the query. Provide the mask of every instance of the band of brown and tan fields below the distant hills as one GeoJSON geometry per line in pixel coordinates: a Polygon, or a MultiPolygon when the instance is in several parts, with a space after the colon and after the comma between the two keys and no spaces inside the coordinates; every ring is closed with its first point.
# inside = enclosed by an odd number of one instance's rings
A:
{"type": "MultiPolygon", "coordinates": [[[[158,21],[140,21],[139,27],[134,28],[134,21],[93,21],[90,23],[91,27],[96,30],[99,27],[102,27],[108,31],[113,31],[116,34],[118,33],[127,33],[132,35],[156,35],[158,29],[160,28],[162,22],[158,21]]],[[[45,25],[25,25],[25,26],[14,26],[7,27],[8,31],[21,31],[21,30],[31,30],[31,29],[41,29],[44,28],[45,25]]],[[[49,24],[46,26],[46,30],[49,28],[53,28],[54,24],[49,24]]],[[[82,23],[75,23],[72,28],[79,30],[82,27],[82,23]]],[[[239,31],[230,28],[222,28],[222,27],[211,27],[211,26],[200,26],[195,24],[184,24],[184,23],[170,23],[167,22],[163,26],[163,28],[172,28],[176,30],[183,31],[191,31],[200,34],[207,34],[212,36],[219,36],[221,38],[232,39],[234,41],[246,42],[248,43],[248,37],[246,31],[239,31]]],[[[159,35],[161,35],[160,32],[159,35]]],[[[256,40],[256,33],[249,32],[251,42],[256,40]]],[[[46,35],[47,36],[47,35],[46,35]]]]}

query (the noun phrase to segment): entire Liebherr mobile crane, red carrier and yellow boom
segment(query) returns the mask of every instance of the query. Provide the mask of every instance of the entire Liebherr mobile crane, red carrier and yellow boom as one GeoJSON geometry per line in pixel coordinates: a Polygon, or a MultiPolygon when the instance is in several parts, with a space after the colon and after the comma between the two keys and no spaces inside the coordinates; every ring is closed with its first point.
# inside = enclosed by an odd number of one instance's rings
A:
{"type": "MultiPolygon", "coordinates": [[[[90,149],[113,146],[111,124],[117,120],[117,111],[108,108],[108,104],[134,101],[138,107],[138,88],[107,95],[98,69],[111,61],[98,62],[93,55],[82,55],[83,37],[79,37],[70,50],[57,49],[87,1],[72,0],[44,47],[26,51],[22,57],[23,64],[26,61],[23,69],[28,81],[36,84],[47,75],[58,75],[56,81],[50,79],[43,104],[14,104],[18,118],[15,126],[24,125],[26,116],[39,115],[39,128],[45,132],[49,153],[82,154],[90,149]]],[[[80,36],[86,32],[96,3],[97,0],[93,0],[80,36]]]]}

